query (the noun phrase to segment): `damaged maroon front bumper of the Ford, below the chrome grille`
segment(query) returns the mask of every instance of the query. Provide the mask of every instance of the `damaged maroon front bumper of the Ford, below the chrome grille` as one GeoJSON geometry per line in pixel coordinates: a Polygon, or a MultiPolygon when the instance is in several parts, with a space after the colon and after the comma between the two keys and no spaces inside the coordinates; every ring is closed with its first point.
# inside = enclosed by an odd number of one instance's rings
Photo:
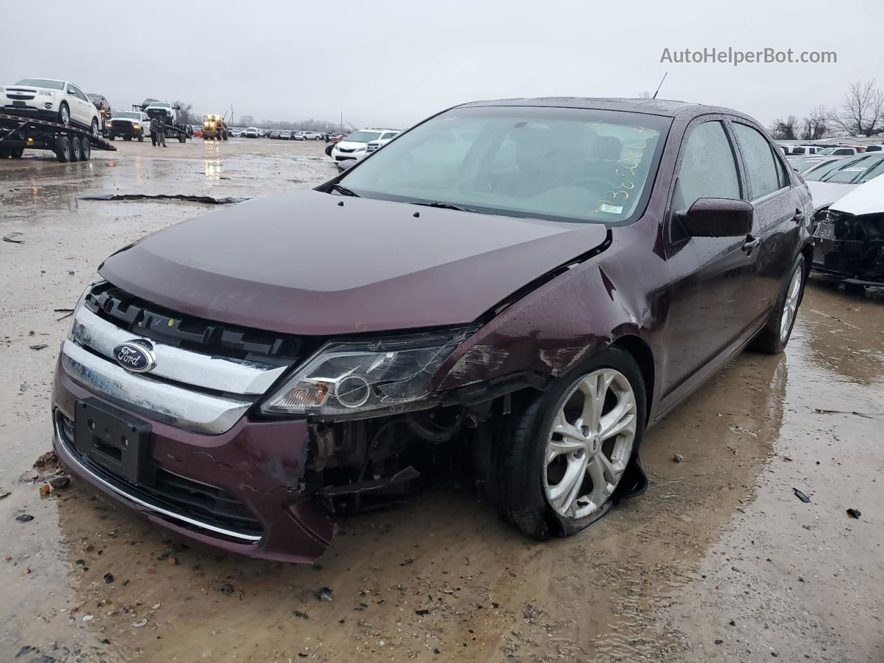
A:
{"type": "Polygon", "coordinates": [[[52,395],[53,446],[72,474],[184,537],[267,560],[312,562],[335,525],[303,494],[306,420],[240,418],[217,435],[185,431],[120,408],[77,384],[59,359],[52,395]],[[149,462],[165,483],[131,484],[80,454],[72,422],[78,400],[97,398],[151,425],[149,462]],[[65,418],[67,422],[65,422],[65,418]],[[173,487],[173,489],[170,488],[173,487]],[[246,515],[248,514],[248,515],[246,515]]]}

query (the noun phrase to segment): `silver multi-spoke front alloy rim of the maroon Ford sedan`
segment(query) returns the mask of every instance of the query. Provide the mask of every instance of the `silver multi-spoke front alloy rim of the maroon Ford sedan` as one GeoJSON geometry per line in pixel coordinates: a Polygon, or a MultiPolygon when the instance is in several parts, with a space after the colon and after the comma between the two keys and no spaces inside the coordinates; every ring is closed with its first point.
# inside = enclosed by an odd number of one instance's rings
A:
{"type": "Polygon", "coordinates": [[[557,514],[580,519],[611,497],[636,440],[636,395],[618,370],[594,370],[560,400],[545,450],[544,490],[557,514]]]}

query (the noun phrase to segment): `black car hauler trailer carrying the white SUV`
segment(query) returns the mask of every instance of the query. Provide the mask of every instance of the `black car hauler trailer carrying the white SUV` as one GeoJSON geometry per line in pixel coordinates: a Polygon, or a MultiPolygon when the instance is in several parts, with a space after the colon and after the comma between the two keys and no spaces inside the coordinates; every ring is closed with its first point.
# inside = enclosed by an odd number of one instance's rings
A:
{"type": "Polygon", "coordinates": [[[19,159],[25,149],[50,149],[58,161],[87,161],[93,149],[115,150],[88,129],[0,113],[0,158],[19,159]]]}

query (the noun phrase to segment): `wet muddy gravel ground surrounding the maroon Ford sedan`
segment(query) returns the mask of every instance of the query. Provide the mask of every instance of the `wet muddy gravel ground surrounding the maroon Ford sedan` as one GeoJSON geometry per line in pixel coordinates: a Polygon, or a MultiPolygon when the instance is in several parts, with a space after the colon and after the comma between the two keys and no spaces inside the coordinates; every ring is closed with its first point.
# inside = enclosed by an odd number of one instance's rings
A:
{"type": "Polygon", "coordinates": [[[116,146],[0,162],[0,236],[21,233],[0,241],[0,661],[884,660],[884,293],[816,278],[787,354],[741,354],[648,431],[648,492],[566,540],[456,476],[342,522],[313,567],[190,545],[80,481],[42,495],[63,309],[105,255],[212,209],[81,196],[334,172],[320,142],[116,146]]]}

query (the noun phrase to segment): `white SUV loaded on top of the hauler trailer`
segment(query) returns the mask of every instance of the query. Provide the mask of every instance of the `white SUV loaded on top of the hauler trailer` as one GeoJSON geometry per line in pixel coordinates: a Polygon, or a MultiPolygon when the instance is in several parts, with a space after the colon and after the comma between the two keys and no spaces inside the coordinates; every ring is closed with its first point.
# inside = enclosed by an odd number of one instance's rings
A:
{"type": "Polygon", "coordinates": [[[101,127],[95,104],[69,80],[22,79],[4,86],[0,109],[11,115],[33,115],[62,125],[82,126],[95,136],[101,127]]]}

